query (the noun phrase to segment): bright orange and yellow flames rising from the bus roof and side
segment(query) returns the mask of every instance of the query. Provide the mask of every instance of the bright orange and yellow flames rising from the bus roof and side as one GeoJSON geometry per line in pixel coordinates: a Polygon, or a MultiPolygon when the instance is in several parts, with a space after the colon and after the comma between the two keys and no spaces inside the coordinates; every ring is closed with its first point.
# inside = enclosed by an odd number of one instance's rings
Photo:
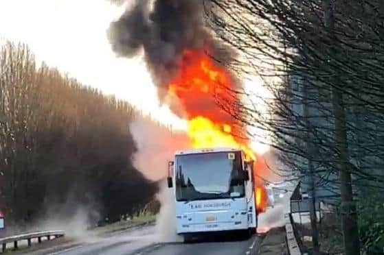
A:
{"type": "MultiPolygon", "coordinates": [[[[230,112],[240,112],[237,109],[238,96],[234,91],[236,83],[229,71],[218,66],[204,52],[185,50],[179,62],[179,73],[168,84],[168,99],[177,101],[173,110],[182,111],[188,119],[188,136],[192,147],[242,149],[248,160],[256,160],[249,140],[244,137],[244,126],[218,106],[216,101],[217,98],[225,101],[230,112]]],[[[265,189],[255,189],[258,210],[263,211],[266,197],[262,191],[265,189]]]]}

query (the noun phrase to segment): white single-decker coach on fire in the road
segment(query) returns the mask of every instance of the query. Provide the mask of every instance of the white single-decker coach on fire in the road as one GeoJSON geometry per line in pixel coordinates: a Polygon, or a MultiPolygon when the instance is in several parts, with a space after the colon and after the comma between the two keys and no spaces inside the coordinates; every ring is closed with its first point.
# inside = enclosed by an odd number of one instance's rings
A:
{"type": "Polygon", "coordinates": [[[212,232],[257,228],[253,162],[239,149],[179,151],[169,162],[177,234],[190,241],[212,232]]]}

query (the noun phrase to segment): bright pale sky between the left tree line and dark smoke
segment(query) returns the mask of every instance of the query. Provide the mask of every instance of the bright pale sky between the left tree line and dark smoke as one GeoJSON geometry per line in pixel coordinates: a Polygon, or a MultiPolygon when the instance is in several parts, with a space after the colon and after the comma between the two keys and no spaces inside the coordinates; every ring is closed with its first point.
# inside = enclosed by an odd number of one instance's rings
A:
{"type": "Polygon", "coordinates": [[[25,42],[38,62],[185,130],[185,121],[159,106],[142,59],[118,58],[111,49],[106,29],[125,8],[106,0],[0,0],[0,39],[25,42]]]}

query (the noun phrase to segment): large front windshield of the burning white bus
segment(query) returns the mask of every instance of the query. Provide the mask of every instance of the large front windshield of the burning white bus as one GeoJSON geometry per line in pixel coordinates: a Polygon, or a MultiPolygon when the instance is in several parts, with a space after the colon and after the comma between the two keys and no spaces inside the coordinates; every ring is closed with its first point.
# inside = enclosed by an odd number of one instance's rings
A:
{"type": "Polygon", "coordinates": [[[175,172],[177,201],[245,195],[240,151],[178,155],[175,172]]]}

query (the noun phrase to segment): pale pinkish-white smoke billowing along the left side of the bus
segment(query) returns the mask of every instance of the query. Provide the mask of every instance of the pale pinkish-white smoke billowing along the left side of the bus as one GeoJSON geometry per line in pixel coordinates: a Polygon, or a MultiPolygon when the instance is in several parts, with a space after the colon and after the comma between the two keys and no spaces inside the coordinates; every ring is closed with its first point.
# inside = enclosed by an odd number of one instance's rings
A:
{"type": "MultiPolygon", "coordinates": [[[[137,144],[133,161],[135,167],[150,180],[165,180],[168,161],[173,160],[175,151],[188,147],[187,136],[181,132],[171,132],[168,127],[145,117],[137,117],[130,128],[137,144]]],[[[155,241],[179,241],[174,217],[174,193],[168,189],[165,181],[161,181],[160,186],[157,199],[161,208],[157,215],[155,241]]]]}

